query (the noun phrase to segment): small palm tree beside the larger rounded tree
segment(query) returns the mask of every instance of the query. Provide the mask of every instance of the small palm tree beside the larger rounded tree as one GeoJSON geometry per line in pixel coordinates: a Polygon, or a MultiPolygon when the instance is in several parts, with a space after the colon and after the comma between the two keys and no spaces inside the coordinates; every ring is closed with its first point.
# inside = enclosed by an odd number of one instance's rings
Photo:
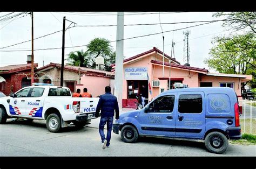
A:
{"type": "Polygon", "coordinates": [[[87,53],[82,51],[70,52],[68,59],[66,59],[72,66],[87,67],[89,58],[87,53]]]}

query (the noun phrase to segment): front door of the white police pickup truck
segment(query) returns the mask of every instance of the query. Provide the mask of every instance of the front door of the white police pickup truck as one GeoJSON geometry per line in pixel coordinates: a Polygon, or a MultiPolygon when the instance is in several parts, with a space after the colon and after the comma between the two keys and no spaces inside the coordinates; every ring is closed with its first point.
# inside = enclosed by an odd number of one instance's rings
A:
{"type": "Polygon", "coordinates": [[[17,97],[10,98],[10,114],[17,116],[26,116],[26,104],[28,104],[28,96],[31,88],[19,90],[16,93],[17,97]]]}

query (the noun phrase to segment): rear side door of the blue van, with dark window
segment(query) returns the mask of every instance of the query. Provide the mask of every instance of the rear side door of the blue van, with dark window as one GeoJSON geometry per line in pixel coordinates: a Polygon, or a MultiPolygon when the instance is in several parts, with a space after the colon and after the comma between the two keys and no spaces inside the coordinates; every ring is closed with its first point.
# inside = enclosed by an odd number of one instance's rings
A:
{"type": "Polygon", "coordinates": [[[205,97],[202,91],[177,95],[176,136],[200,138],[205,132],[205,97]]]}

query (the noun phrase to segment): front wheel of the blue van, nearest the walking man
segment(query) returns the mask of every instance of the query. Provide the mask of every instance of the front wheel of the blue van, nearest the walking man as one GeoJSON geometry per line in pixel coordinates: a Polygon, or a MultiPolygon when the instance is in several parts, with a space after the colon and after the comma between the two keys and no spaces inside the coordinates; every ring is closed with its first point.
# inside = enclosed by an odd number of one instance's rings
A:
{"type": "Polygon", "coordinates": [[[121,137],[125,143],[137,142],[139,135],[138,131],[132,125],[125,125],[121,130],[121,137]]]}

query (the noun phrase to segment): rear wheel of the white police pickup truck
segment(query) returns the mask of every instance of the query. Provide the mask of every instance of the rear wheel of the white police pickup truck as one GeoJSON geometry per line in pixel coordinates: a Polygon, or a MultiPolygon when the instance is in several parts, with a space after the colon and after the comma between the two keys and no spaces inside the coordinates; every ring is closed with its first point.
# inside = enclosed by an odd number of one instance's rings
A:
{"type": "Polygon", "coordinates": [[[46,119],[46,126],[50,132],[58,132],[62,126],[60,117],[56,114],[50,114],[46,119]]]}

